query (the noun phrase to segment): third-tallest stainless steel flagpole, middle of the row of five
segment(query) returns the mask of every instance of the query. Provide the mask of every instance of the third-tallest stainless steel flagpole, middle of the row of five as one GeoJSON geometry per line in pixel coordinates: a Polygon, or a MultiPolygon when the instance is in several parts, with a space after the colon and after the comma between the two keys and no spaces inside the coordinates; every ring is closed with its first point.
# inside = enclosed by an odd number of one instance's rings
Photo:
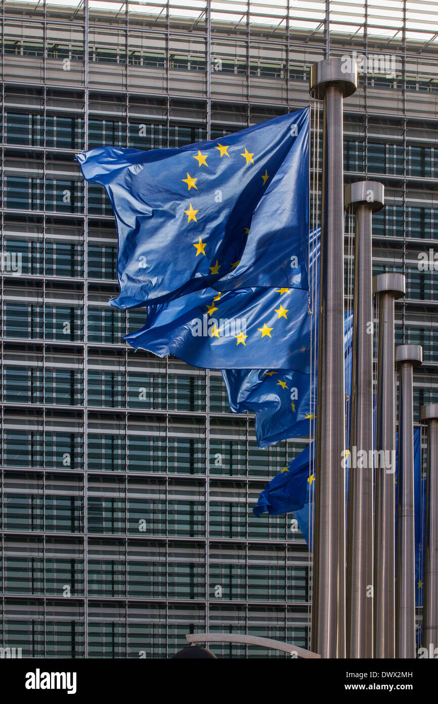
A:
{"type": "Polygon", "coordinates": [[[375,446],[394,466],[375,470],[374,657],[395,658],[395,386],[394,300],[405,293],[403,274],[373,278],[379,296],[378,383],[375,446]]]}

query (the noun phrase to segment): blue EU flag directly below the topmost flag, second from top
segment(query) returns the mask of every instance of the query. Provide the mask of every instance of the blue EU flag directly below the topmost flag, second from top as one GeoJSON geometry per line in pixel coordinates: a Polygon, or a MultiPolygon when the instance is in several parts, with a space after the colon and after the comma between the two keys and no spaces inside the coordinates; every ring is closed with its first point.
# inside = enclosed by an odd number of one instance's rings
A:
{"type": "Polygon", "coordinates": [[[149,306],[146,325],[124,339],[205,369],[276,367],[307,375],[310,325],[303,289],[205,289],[149,306]]]}

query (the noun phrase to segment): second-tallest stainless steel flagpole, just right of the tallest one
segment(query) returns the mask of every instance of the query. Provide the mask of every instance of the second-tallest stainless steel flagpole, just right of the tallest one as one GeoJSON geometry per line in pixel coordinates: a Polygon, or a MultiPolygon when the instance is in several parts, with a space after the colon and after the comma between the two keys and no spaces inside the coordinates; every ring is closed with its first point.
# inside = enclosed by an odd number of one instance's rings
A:
{"type": "MultiPolygon", "coordinates": [[[[375,181],[345,187],[355,218],[352,434],[347,532],[347,658],[373,657],[373,263],[372,213],[383,208],[375,181]]],[[[348,443],[347,443],[348,444],[348,443]]]]}

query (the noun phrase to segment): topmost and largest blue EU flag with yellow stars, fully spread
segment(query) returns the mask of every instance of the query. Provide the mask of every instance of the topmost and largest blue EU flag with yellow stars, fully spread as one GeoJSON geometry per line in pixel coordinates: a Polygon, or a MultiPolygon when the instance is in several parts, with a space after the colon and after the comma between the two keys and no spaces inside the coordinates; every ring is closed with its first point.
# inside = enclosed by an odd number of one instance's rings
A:
{"type": "Polygon", "coordinates": [[[309,108],[180,149],[77,155],[117,223],[120,294],[132,308],[200,291],[308,288],[309,108]]]}

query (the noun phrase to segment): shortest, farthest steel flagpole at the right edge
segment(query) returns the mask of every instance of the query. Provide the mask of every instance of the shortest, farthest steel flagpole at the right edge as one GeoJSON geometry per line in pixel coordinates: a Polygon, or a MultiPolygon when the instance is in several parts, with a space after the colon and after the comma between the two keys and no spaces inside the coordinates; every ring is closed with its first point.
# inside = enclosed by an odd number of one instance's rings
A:
{"type": "Polygon", "coordinates": [[[421,420],[427,423],[423,648],[432,658],[438,647],[438,403],[423,406],[421,420]]]}

